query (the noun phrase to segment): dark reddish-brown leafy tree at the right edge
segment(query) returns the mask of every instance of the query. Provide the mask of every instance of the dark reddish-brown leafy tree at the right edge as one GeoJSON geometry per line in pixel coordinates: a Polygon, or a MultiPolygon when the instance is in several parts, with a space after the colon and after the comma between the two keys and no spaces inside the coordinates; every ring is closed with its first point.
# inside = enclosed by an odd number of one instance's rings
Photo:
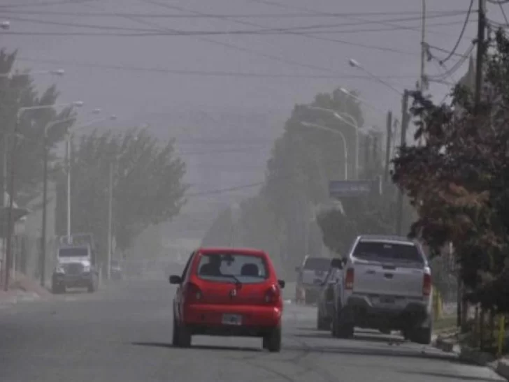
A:
{"type": "Polygon", "coordinates": [[[418,212],[410,235],[436,253],[452,242],[469,298],[501,310],[507,309],[500,288],[508,286],[509,249],[509,41],[503,31],[493,45],[478,107],[464,85],[454,88],[450,105],[415,94],[416,138],[426,144],[400,147],[393,179],[418,212]]]}

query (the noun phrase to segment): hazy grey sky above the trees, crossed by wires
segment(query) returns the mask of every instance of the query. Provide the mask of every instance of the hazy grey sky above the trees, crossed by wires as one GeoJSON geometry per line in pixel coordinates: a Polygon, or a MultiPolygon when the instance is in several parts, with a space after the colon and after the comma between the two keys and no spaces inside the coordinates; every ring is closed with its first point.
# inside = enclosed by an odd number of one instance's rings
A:
{"type": "MultiPolygon", "coordinates": [[[[477,3],[458,55],[445,68],[454,67],[472,44],[477,3]]],[[[444,71],[438,62],[457,42],[469,4],[469,0],[426,0],[426,42],[435,57],[426,62],[429,75],[444,71]]],[[[242,134],[243,116],[277,116],[278,126],[273,126],[273,117],[259,119],[264,126],[258,135],[270,139],[263,148],[245,154],[252,160],[242,164],[249,168],[242,179],[229,168],[224,172],[231,172],[230,177],[214,175],[222,166],[219,161],[209,163],[212,168],[202,166],[200,173],[194,171],[192,182],[207,189],[214,179],[224,187],[243,184],[246,177],[260,180],[271,139],[282,121],[294,103],[312,101],[318,92],[338,86],[357,89],[371,105],[399,115],[399,94],[352,68],[348,59],[356,59],[396,89],[415,87],[421,6],[421,0],[0,0],[0,20],[11,23],[9,32],[0,33],[0,45],[19,50],[19,68],[64,68],[66,75],[58,80],[61,101],[85,101],[83,115],[102,108],[132,124],[157,119],[169,135],[178,131],[181,142],[188,140],[184,151],[200,150],[203,146],[191,138],[204,131],[209,142],[211,136],[220,135],[216,129],[222,115],[236,115],[229,117],[231,126],[221,133],[227,138],[236,126],[242,134]],[[272,31],[253,34],[261,29],[272,31]],[[182,31],[203,33],[186,36],[182,31]],[[227,31],[231,33],[224,34],[227,31]],[[196,129],[189,128],[194,125],[196,129]]],[[[489,5],[488,16],[503,21],[496,5],[489,5]]],[[[465,70],[466,65],[445,80],[458,80],[465,70]]],[[[52,83],[47,76],[37,78],[41,86],[52,83]]],[[[441,99],[449,88],[431,83],[430,91],[441,99]]],[[[381,113],[370,108],[365,112],[369,124],[385,123],[381,113]]],[[[257,123],[245,128],[252,132],[257,123]]],[[[217,147],[228,151],[236,146],[238,141],[217,147]]],[[[222,163],[241,163],[239,155],[243,153],[224,154],[222,163]]],[[[188,161],[212,162],[207,156],[200,158],[188,161]]]]}

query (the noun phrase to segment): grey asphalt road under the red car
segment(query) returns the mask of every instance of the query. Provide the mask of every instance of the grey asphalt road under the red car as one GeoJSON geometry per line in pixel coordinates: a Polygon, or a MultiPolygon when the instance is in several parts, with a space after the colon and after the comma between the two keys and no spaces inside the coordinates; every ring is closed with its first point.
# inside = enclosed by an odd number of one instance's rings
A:
{"type": "Polygon", "coordinates": [[[313,307],[285,307],[281,353],[261,340],[195,337],[171,347],[171,297],[164,281],[120,281],[89,295],[0,305],[2,382],[503,381],[487,368],[398,337],[315,330],[313,307]]]}

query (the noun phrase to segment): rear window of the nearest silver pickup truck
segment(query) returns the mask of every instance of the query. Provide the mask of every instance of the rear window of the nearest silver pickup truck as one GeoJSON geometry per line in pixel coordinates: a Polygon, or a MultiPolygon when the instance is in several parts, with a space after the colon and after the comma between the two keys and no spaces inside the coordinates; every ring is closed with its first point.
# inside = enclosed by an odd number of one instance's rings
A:
{"type": "Polygon", "coordinates": [[[424,264],[424,259],[414,244],[359,242],[353,255],[361,260],[404,261],[424,264]]]}

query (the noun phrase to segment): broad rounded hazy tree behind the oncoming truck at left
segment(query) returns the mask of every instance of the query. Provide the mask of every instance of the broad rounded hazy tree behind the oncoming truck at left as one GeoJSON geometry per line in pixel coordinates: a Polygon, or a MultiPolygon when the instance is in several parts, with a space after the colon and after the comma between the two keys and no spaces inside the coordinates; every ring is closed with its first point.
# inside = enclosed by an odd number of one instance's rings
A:
{"type": "Polygon", "coordinates": [[[81,138],[71,161],[72,232],[92,232],[105,247],[110,168],[113,235],[124,251],[145,228],[180,212],[185,165],[175,156],[173,140],[159,145],[146,129],[122,135],[94,131],[81,138]]]}

